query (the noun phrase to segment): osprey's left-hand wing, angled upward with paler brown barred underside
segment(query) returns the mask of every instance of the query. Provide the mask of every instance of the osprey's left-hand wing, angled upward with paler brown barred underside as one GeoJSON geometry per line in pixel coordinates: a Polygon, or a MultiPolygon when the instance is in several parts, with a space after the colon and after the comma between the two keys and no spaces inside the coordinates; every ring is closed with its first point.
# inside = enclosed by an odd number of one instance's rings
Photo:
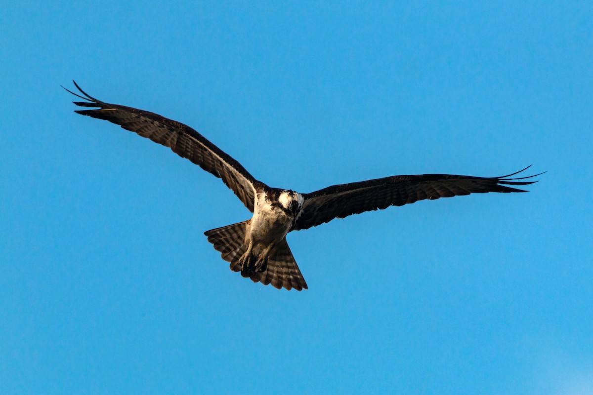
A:
{"type": "Polygon", "coordinates": [[[95,110],[76,110],[76,113],[113,122],[123,129],[134,131],[155,143],[170,147],[181,158],[187,158],[205,171],[222,178],[225,185],[231,188],[245,207],[253,213],[256,190],[264,184],[253,178],[241,163],[209,142],[202,134],[158,114],[100,101],[84,92],[76,82],[74,85],[84,97],[64,89],[76,97],[88,100],[75,101],[74,104],[80,107],[98,107],[95,110]]]}

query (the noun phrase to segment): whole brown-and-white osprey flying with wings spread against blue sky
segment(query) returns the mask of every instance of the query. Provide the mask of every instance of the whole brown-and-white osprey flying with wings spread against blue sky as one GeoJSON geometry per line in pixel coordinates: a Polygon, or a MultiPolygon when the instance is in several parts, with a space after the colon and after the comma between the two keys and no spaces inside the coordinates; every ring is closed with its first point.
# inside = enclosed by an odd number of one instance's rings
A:
{"type": "Polygon", "coordinates": [[[74,85],[82,95],[64,89],[85,100],[74,104],[95,108],[76,110],[76,113],[110,121],[170,147],[177,155],[221,178],[253,217],[204,234],[216,251],[221,252],[222,259],[231,263],[232,271],[278,289],[307,289],[307,282],[286,243],[286,234],[292,230],[308,229],[334,218],[424,199],[484,192],[526,192],[505,185],[533,184],[536,181],[518,180],[539,175],[509,178],[527,168],[500,177],[396,175],[301,194],[272,188],[258,181],[237,160],[189,126],[138,108],[100,101],[84,92],[76,82],[74,85]]]}

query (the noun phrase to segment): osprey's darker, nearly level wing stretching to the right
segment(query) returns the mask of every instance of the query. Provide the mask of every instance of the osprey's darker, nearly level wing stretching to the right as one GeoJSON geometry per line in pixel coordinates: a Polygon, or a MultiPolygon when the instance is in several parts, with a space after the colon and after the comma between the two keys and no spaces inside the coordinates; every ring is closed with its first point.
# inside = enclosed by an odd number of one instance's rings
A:
{"type": "Polygon", "coordinates": [[[292,229],[308,229],[334,218],[344,218],[352,214],[364,213],[364,211],[382,210],[390,205],[404,205],[424,199],[433,200],[485,192],[527,192],[505,186],[533,184],[537,181],[517,180],[543,174],[509,178],[525,169],[500,177],[451,174],[396,175],[352,184],[333,185],[303,195],[305,201],[302,211],[292,229]]]}

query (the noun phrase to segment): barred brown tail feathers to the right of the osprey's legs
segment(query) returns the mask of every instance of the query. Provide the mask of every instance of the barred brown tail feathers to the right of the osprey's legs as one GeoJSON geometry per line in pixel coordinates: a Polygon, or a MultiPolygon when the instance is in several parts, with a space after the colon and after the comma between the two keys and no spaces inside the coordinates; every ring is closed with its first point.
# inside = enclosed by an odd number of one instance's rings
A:
{"type": "MultiPolygon", "coordinates": [[[[240,271],[238,268],[236,271],[240,271]]],[[[262,282],[262,284],[272,284],[278,289],[284,287],[287,290],[294,288],[297,291],[307,289],[307,282],[302,277],[291,249],[288,247],[286,239],[283,239],[276,245],[274,251],[270,253],[267,261],[267,269],[264,272],[256,273],[251,276],[253,282],[262,282]]]]}

